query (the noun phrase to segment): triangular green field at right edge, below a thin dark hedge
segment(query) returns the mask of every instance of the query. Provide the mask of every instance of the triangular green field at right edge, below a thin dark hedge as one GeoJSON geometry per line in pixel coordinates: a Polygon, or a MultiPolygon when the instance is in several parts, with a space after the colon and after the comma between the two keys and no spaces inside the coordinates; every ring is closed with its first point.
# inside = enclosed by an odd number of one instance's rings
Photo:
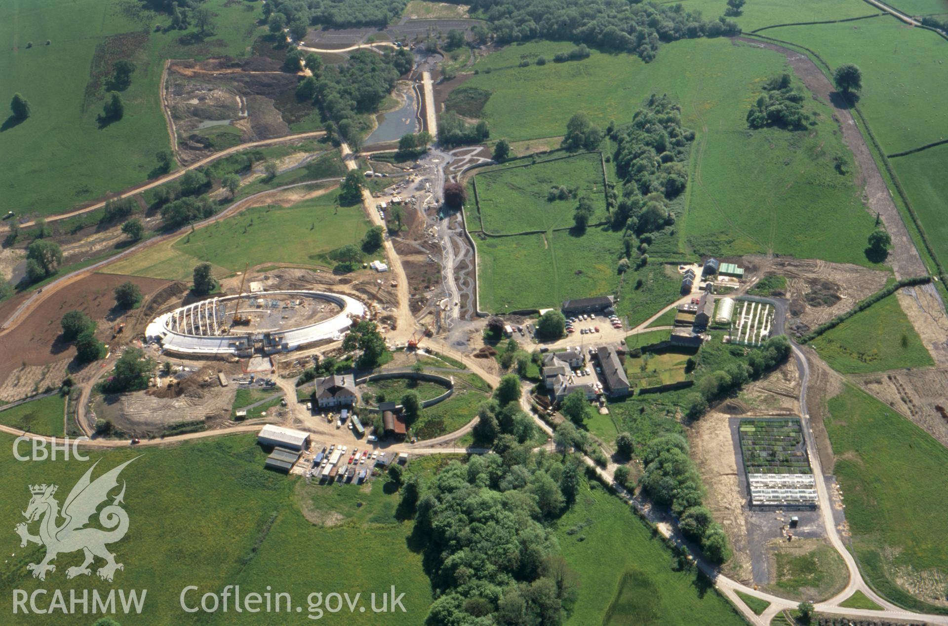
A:
{"type": "Polygon", "coordinates": [[[948,259],[948,220],[944,219],[944,199],[948,198],[948,145],[890,159],[902,182],[905,195],[919,216],[928,242],[936,256],[948,259]]]}

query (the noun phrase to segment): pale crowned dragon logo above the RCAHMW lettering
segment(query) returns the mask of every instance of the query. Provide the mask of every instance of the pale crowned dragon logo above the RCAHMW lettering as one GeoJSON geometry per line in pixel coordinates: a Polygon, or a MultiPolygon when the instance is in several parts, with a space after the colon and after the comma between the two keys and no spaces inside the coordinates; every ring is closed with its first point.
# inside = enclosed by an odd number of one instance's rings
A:
{"type": "MultiPolygon", "coordinates": [[[[137,457],[136,457],[137,458],[137,457]]],[[[59,502],[53,497],[56,494],[56,485],[30,485],[29,491],[33,494],[29,499],[29,506],[23,512],[27,522],[17,524],[13,530],[20,535],[20,546],[39,544],[46,546],[46,558],[41,563],[29,563],[27,569],[33,572],[33,578],[46,580],[46,572],[55,572],[56,565],[50,563],[57,555],[82,550],[85,560],[82,565],[66,569],[66,578],[89,576],[92,571],[89,565],[96,557],[105,560],[96,573],[103,581],[112,581],[117,569],[124,569],[122,563],[116,563],[114,554],[108,551],[106,544],[113,544],[125,536],[128,531],[128,513],[119,507],[125,496],[125,481],[122,481],[121,492],[116,495],[112,504],[104,507],[99,513],[99,523],[107,528],[83,528],[89,523],[89,518],[96,513],[100,504],[108,500],[110,491],[118,487],[118,474],[135,458],[125,461],[118,467],[91,480],[92,471],[96,469],[96,461],[86,472],[76,486],[69,492],[60,510],[59,502]],[[59,519],[64,522],[59,524],[59,519]],[[27,524],[40,521],[38,535],[29,534],[27,524]]]]}

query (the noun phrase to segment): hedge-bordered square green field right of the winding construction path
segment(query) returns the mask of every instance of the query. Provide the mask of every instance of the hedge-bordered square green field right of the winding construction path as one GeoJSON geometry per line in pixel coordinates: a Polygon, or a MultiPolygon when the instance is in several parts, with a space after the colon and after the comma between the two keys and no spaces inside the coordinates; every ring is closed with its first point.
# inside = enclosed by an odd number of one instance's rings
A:
{"type": "MultiPolygon", "coordinates": [[[[607,218],[602,160],[598,153],[541,161],[536,165],[514,162],[514,167],[478,172],[477,206],[483,229],[495,235],[527,230],[550,230],[573,226],[576,198],[549,201],[550,188],[578,188],[576,197],[589,196],[595,212],[591,224],[607,218]],[[518,167],[519,166],[519,167],[518,167]]],[[[468,203],[470,205],[471,203],[468,203]]],[[[472,207],[473,208],[473,207],[472,207]]],[[[474,228],[478,216],[469,214],[474,228]]]]}

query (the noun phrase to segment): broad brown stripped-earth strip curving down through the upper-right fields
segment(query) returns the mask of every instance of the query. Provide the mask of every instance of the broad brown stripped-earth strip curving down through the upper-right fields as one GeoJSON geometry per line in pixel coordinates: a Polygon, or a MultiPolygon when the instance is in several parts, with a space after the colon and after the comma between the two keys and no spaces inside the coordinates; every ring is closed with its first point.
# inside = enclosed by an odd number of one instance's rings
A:
{"type": "Polygon", "coordinates": [[[787,62],[793,67],[796,76],[803,80],[803,83],[812,92],[813,98],[829,104],[833,108],[834,117],[839,122],[840,129],[843,132],[843,141],[859,163],[860,176],[865,184],[863,202],[866,205],[866,210],[873,215],[879,214],[883,224],[885,224],[885,230],[892,237],[893,250],[889,253],[888,262],[895,271],[896,277],[907,278],[927,275],[928,270],[921,262],[919,251],[915,249],[915,243],[909,236],[905,223],[902,222],[899,209],[892,202],[892,196],[885,186],[879,167],[866,146],[866,139],[859,131],[859,126],[856,125],[852,114],[849,113],[846,100],[836,92],[826,75],[820,71],[820,68],[812,62],[810,57],[795,50],[748,37],[734,37],[731,41],[735,45],[753,45],[775,50],[784,55],[787,57],[787,62]]]}

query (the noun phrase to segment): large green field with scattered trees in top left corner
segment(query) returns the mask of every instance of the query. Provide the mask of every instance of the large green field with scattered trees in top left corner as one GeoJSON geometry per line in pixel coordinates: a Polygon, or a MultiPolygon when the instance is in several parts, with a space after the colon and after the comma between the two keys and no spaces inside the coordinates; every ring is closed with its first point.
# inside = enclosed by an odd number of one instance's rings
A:
{"type": "Polygon", "coordinates": [[[0,40],[7,43],[0,52],[0,98],[6,111],[20,92],[32,107],[26,121],[2,133],[0,168],[7,176],[0,210],[49,215],[149,178],[155,152],[170,148],[158,98],[163,60],[241,56],[258,29],[256,7],[228,0],[204,6],[215,15],[216,29],[200,41],[193,28],[155,31],[170,16],[143,3],[0,3],[0,40]],[[100,128],[103,85],[118,59],[133,61],[137,70],[122,93],[125,115],[100,128]]]}

